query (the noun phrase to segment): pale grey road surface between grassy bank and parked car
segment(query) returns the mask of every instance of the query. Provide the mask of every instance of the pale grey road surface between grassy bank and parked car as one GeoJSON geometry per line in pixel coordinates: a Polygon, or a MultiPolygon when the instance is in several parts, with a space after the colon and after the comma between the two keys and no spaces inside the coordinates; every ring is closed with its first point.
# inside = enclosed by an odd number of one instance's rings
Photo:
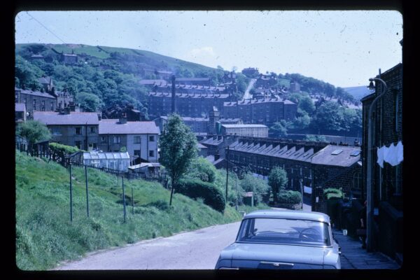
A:
{"type": "Polygon", "coordinates": [[[214,225],[172,237],[149,239],[123,248],[91,253],[55,270],[214,269],[219,253],[235,241],[240,223],[214,225]]]}

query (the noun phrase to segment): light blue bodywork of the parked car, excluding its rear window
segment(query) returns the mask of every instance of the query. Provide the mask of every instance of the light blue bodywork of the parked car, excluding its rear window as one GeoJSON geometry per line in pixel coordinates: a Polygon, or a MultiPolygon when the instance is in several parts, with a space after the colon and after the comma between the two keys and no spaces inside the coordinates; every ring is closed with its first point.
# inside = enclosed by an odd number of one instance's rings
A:
{"type": "Polygon", "coordinates": [[[248,218],[281,218],[318,221],[328,225],[330,245],[264,244],[236,241],[221,251],[215,269],[340,269],[339,246],[332,238],[330,217],[323,213],[292,210],[260,210],[248,218]]]}

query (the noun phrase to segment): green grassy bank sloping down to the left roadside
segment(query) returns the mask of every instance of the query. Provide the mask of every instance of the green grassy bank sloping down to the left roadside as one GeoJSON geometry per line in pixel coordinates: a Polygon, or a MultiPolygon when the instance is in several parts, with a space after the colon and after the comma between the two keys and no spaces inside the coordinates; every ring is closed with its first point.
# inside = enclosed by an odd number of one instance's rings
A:
{"type": "Polygon", "coordinates": [[[90,251],[241,219],[235,208],[227,207],[222,214],[179,194],[169,207],[169,190],[159,183],[125,180],[124,223],[121,181],[96,169],[88,169],[87,217],[84,170],[73,167],[70,222],[68,169],[20,152],[16,152],[15,183],[16,263],[25,270],[50,269],[90,251]]]}

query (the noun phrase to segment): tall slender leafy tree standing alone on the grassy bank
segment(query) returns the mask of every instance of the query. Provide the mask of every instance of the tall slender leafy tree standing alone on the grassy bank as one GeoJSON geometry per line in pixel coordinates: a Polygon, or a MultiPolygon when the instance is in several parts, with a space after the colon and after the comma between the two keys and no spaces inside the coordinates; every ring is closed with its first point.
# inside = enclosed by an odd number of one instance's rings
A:
{"type": "Polygon", "coordinates": [[[172,179],[169,205],[172,204],[174,189],[186,173],[193,159],[197,156],[197,139],[190,127],[185,125],[179,115],[172,114],[160,137],[160,162],[172,179]]]}

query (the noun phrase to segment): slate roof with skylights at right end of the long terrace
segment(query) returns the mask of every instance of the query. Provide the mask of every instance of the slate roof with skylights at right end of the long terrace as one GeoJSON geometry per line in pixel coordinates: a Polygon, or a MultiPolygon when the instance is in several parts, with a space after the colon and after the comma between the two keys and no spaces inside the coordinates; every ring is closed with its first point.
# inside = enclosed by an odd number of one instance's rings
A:
{"type": "Polygon", "coordinates": [[[321,151],[318,151],[311,162],[314,165],[349,167],[360,160],[360,154],[356,157],[350,155],[353,151],[360,151],[360,147],[328,145],[321,151]],[[332,155],[331,153],[335,150],[342,150],[342,152],[338,155],[332,155]]]}

